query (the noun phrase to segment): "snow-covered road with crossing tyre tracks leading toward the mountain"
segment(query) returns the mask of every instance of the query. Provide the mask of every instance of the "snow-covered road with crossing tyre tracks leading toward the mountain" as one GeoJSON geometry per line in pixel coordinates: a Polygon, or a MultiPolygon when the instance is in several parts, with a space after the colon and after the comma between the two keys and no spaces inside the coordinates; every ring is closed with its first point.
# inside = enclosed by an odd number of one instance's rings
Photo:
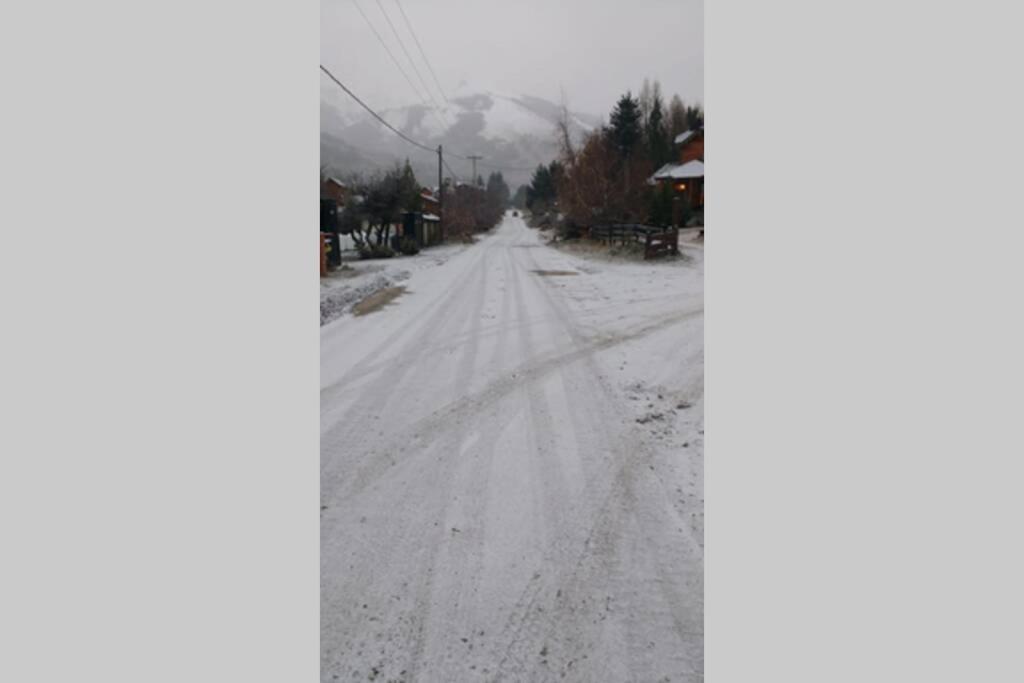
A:
{"type": "Polygon", "coordinates": [[[508,215],[322,328],[323,681],[702,680],[691,251],[584,260],[508,215]]]}

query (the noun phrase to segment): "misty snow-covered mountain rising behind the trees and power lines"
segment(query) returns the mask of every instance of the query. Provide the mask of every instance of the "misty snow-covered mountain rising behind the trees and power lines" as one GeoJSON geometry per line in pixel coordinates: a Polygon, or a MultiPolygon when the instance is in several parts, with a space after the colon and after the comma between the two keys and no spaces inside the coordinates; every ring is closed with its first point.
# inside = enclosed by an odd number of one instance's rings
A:
{"type": "MultiPolygon", "coordinates": [[[[384,110],[381,116],[396,129],[427,146],[443,145],[449,165],[462,179],[472,167],[455,155],[479,155],[477,173],[501,170],[509,185],[529,181],[538,164],[557,155],[556,124],[560,108],[529,95],[507,95],[488,90],[467,92],[465,87],[440,102],[439,110],[422,104],[384,110]]],[[[354,102],[353,102],[354,104],[354,102]]],[[[435,184],[437,158],[418,150],[384,128],[364,110],[346,109],[321,100],[321,164],[344,175],[373,172],[409,158],[424,183],[435,184]]],[[[572,112],[574,137],[600,125],[596,117],[572,112]]],[[[450,175],[444,170],[444,175],[450,175]]]]}

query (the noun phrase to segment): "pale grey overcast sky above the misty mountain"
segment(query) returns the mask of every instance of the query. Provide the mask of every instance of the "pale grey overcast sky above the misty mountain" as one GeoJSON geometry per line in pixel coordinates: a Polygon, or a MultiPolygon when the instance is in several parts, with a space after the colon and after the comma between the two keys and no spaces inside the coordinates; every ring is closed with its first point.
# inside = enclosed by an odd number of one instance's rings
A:
{"type": "MultiPolygon", "coordinates": [[[[354,2],[420,87],[378,0],[354,2]]],[[[322,0],[321,60],[371,106],[412,103],[410,86],[354,2],[322,0]]],[[[433,88],[395,0],[379,2],[433,88]]],[[[400,2],[450,96],[465,81],[473,91],[557,102],[563,86],[570,109],[606,117],[620,94],[636,94],[648,77],[662,82],[667,99],[678,92],[687,103],[703,101],[702,0],[400,2]]],[[[330,101],[346,98],[326,78],[321,91],[330,101]]]]}

